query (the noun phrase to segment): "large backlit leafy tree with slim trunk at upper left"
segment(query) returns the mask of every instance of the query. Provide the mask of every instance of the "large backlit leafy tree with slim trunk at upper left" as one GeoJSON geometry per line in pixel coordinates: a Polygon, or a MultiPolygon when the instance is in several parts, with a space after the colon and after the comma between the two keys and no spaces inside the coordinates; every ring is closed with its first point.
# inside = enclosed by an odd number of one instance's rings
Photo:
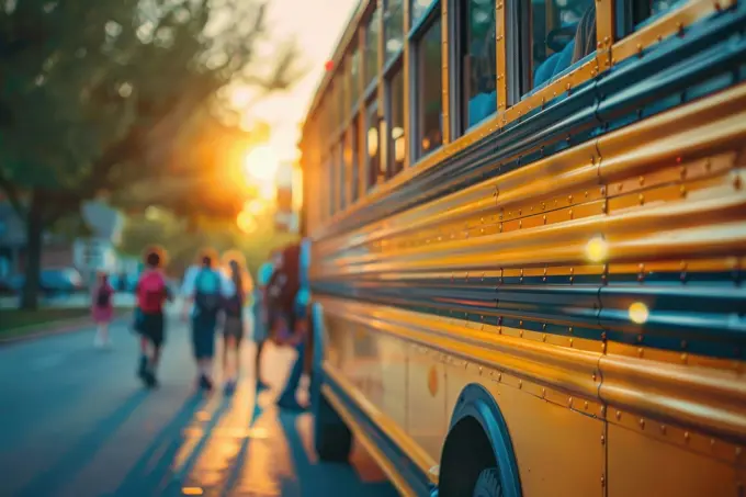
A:
{"type": "Polygon", "coordinates": [[[240,81],[292,81],[253,0],[0,2],[0,189],[25,221],[22,306],[36,307],[43,233],[82,202],[162,179],[183,124],[240,81]],[[269,68],[269,69],[268,69],[269,68]]]}

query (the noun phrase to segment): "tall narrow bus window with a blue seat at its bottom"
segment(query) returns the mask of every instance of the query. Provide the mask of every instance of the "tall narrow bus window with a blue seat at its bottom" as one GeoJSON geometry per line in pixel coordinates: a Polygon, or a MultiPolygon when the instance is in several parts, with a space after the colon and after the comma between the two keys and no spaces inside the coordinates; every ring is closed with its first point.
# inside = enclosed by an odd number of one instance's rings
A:
{"type": "Polygon", "coordinates": [[[495,0],[459,0],[456,12],[456,126],[462,134],[497,111],[495,0]]]}

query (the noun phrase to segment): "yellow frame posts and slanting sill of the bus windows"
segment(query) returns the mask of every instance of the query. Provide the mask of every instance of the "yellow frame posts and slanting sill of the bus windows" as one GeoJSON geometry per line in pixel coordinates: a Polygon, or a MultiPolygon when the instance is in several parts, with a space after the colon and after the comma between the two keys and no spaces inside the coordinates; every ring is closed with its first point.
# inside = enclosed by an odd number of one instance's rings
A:
{"type": "MultiPolygon", "coordinates": [[[[412,56],[411,43],[412,36],[415,36],[421,26],[427,22],[429,13],[433,9],[439,9],[441,5],[445,5],[448,10],[449,1],[452,0],[436,0],[429,8],[428,14],[420,18],[417,22],[409,27],[404,47],[404,71],[405,71],[405,133],[407,135],[407,146],[405,147],[405,170],[402,171],[396,177],[392,178],[385,184],[376,184],[372,189],[361,188],[361,193],[357,202],[348,206],[344,213],[337,213],[332,216],[334,218],[327,218],[323,224],[329,225],[336,223],[341,216],[347,216],[353,212],[365,208],[366,205],[385,195],[389,190],[396,188],[398,184],[410,180],[415,176],[418,176],[430,168],[437,166],[439,162],[448,157],[451,157],[461,150],[468,148],[475,142],[484,138],[490,133],[499,132],[506,125],[512,123],[513,121],[520,118],[527,113],[541,108],[543,109],[546,103],[551,102],[553,99],[558,97],[564,92],[572,92],[574,88],[586,82],[587,80],[598,76],[601,72],[609,70],[612,66],[620,64],[621,61],[631,58],[638,57],[643,50],[654,47],[656,44],[660,43],[663,39],[669,38],[670,36],[681,34],[692,23],[701,20],[702,18],[715,13],[720,10],[726,10],[732,8],[737,0],[721,0],[720,2],[712,2],[711,0],[690,0],[688,3],[682,5],[677,5],[675,9],[670,10],[653,20],[649,24],[646,24],[638,30],[630,33],[628,36],[620,37],[617,31],[618,14],[617,5],[623,0],[598,0],[596,2],[596,22],[597,22],[597,49],[596,57],[587,58],[580,65],[572,68],[564,75],[561,75],[554,81],[550,81],[544,87],[536,89],[530,95],[523,98],[523,100],[516,99],[516,88],[515,82],[516,66],[518,60],[517,50],[512,49],[513,44],[516,44],[519,38],[517,37],[516,30],[507,30],[507,26],[515,25],[510,23],[511,9],[515,10],[515,2],[519,0],[497,0],[497,12],[496,12],[496,58],[497,58],[497,114],[491,118],[485,120],[483,123],[468,129],[462,136],[447,143],[443,139],[443,145],[426,155],[425,157],[412,156],[414,147],[414,136],[417,132],[414,128],[416,118],[411,113],[412,105],[412,94],[415,92],[412,70],[416,64],[416,57],[412,56]],[[510,5],[513,5],[512,8],[510,5]]],[[[411,23],[409,19],[409,2],[405,1],[405,30],[411,23]]],[[[355,16],[355,29],[359,36],[359,46],[363,46],[363,41],[366,36],[365,30],[368,23],[370,22],[370,16],[373,11],[378,8],[378,2],[371,0],[361,7],[355,16]]],[[[442,15],[443,9],[441,9],[442,15]]],[[[383,23],[383,15],[380,15],[380,22],[383,23]]],[[[443,22],[441,20],[441,22],[443,22]]],[[[448,25],[451,21],[447,19],[448,25]]],[[[383,26],[380,31],[383,33],[383,26]]],[[[449,30],[447,30],[448,32],[449,30]]],[[[384,43],[383,34],[378,37],[380,45],[384,43]]],[[[448,39],[443,43],[443,60],[448,61],[450,56],[450,49],[448,39]]],[[[338,47],[337,52],[346,54],[349,48],[349,43],[342,47],[338,47]]],[[[383,47],[378,49],[378,58],[383,59],[383,47]]],[[[337,57],[338,58],[338,57],[337,57]]],[[[362,64],[362,61],[361,61],[362,64]]],[[[383,66],[383,63],[381,63],[383,66]]],[[[381,67],[383,69],[383,67],[381,67]]],[[[370,102],[372,99],[378,100],[378,109],[384,103],[383,100],[383,70],[378,74],[368,88],[361,93],[360,100],[357,103],[358,112],[352,111],[352,116],[361,116],[362,120],[365,115],[363,112],[366,110],[365,102],[370,102]]],[[[327,101],[330,95],[330,88],[334,78],[325,78],[319,91],[319,93],[314,99],[314,104],[312,106],[312,114],[319,112],[317,108],[321,105],[323,101],[327,101]]],[[[450,76],[449,76],[450,79],[450,76]]],[[[361,84],[364,84],[364,78],[361,78],[361,84]]],[[[445,92],[450,92],[450,84],[444,88],[445,92]]],[[[448,95],[444,95],[448,99],[448,95]]],[[[449,105],[450,108],[450,105],[449,105]]],[[[449,112],[449,108],[444,108],[445,112],[449,112]]],[[[449,112],[450,114],[450,112],[449,112]]],[[[444,116],[445,118],[445,116],[444,116]]],[[[444,121],[445,123],[445,121],[444,121]]],[[[361,122],[360,128],[360,146],[363,147],[366,144],[365,132],[366,127],[363,126],[364,122],[361,122]]],[[[444,132],[451,129],[451,120],[449,117],[448,126],[443,126],[444,132]]],[[[329,129],[329,135],[326,136],[325,143],[321,145],[324,149],[328,149],[330,144],[334,143],[334,135],[339,136],[341,132],[341,126],[338,132],[335,133],[329,129]]],[[[445,133],[443,134],[445,138],[445,133]]],[[[361,167],[368,167],[368,154],[366,149],[361,148],[361,156],[364,153],[364,158],[361,157],[361,167]]],[[[321,162],[324,165],[324,161],[321,162]]],[[[361,182],[365,181],[365,176],[360,174],[361,182]]],[[[365,183],[363,183],[365,184],[365,183]]]]}

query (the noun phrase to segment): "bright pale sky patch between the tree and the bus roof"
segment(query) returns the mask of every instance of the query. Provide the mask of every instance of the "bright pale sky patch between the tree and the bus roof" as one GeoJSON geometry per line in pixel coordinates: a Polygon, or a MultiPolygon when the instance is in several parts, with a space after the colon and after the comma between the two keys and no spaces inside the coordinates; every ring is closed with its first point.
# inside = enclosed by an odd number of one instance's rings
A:
{"type": "Polygon", "coordinates": [[[299,124],[359,0],[271,0],[268,26],[279,39],[295,37],[301,48],[303,79],[290,90],[262,99],[247,112],[272,126],[270,146],[281,160],[295,158],[299,124]]]}

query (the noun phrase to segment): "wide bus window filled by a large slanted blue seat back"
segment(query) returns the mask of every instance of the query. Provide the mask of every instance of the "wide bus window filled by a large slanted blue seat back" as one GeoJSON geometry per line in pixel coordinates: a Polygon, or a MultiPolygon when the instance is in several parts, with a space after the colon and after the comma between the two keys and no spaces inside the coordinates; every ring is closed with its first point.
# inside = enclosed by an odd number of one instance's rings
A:
{"type": "Polygon", "coordinates": [[[530,9],[529,90],[553,81],[596,52],[594,0],[532,0],[530,9]]]}

